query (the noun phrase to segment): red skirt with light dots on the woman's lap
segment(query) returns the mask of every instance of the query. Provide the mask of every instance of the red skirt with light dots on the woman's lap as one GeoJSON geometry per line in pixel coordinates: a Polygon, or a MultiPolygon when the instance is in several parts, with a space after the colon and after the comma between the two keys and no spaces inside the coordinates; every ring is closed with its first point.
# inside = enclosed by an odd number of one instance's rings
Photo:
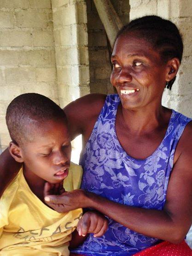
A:
{"type": "Polygon", "coordinates": [[[180,244],[171,244],[167,241],[142,250],[134,256],[192,256],[192,250],[185,240],[180,244]]]}

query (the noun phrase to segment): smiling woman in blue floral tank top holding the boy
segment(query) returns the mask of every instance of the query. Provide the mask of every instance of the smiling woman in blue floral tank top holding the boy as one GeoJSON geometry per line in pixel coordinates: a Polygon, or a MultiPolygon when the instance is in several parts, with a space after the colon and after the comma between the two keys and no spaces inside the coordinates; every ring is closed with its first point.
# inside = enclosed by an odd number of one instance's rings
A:
{"type": "MultiPolygon", "coordinates": [[[[105,235],[87,237],[74,252],[134,255],[161,240],[185,238],[192,223],[192,123],[161,105],[182,51],[173,23],[136,19],[118,33],[111,57],[118,94],[90,94],[65,108],[71,139],[83,135],[87,192],[65,192],[47,202],[62,211],[90,207],[109,217],[105,235]]],[[[5,152],[1,175],[11,170],[8,161],[5,152]]]]}

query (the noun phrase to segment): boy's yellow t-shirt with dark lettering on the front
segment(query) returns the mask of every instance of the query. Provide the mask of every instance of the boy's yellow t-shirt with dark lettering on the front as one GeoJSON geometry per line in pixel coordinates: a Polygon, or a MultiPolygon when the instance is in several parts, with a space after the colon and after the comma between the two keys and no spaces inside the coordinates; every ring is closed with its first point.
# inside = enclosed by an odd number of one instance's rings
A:
{"type": "MultiPolygon", "coordinates": [[[[66,191],[81,185],[81,166],[71,163],[66,191]]],[[[0,256],[68,256],[82,209],[58,213],[31,192],[23,169],[0,199],[0,256]]]]}

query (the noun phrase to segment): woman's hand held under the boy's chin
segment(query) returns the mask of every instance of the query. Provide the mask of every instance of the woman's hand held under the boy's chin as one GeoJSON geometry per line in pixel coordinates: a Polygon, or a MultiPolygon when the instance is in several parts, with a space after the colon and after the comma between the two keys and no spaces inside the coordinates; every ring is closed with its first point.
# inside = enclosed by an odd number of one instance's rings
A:
{"type": "Polygon", "coordinates": [[[44,186],[45,202],[52,209],[61,213],[87,207],[85,204],[85,192],[83,190],[76,189],[71,192],[65,192],[64,189],[56,188],[56,185],[47,182],[44,186]]]}

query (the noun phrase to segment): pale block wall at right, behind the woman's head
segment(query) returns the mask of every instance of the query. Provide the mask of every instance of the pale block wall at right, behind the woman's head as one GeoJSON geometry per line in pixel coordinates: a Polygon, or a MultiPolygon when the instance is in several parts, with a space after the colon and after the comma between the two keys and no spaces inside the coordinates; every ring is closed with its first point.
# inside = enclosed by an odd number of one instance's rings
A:
{"type": "Polygon", "coordinates": [[[176,81],[165,89],[162,104],[192,117],[192,1],[130,0],[130,19],[158,15],[174,22],[183,38],[184,52],[176,81]]]}

